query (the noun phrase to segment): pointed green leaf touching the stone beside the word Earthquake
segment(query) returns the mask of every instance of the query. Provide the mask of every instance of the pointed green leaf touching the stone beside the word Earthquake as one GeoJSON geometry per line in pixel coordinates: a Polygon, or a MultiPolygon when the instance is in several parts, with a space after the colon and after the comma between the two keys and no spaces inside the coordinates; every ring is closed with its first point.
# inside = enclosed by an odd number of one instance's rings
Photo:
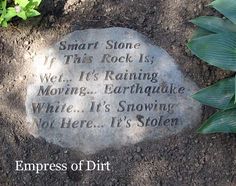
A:
{"type": "Polygon", "coordinates": [[[235,93],[235,78],[227,78],[207,88],[201,89],[192,97],[204,105],[227,109],[235,93]]]}

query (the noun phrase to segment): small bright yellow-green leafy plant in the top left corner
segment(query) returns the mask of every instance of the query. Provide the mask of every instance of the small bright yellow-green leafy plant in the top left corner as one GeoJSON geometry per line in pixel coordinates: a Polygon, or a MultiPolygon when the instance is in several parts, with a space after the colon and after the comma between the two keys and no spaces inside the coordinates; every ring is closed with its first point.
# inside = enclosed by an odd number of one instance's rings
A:
{"type": "Polygon", "coordinates": [[[40,3],[41,0],[14,0],[11,3],[8,3],[7,0],[0,0],[0,25],[7,27],[8,22],[13,17],[26,20],[30,17],[40,15],[36,10],[40,3]]]}

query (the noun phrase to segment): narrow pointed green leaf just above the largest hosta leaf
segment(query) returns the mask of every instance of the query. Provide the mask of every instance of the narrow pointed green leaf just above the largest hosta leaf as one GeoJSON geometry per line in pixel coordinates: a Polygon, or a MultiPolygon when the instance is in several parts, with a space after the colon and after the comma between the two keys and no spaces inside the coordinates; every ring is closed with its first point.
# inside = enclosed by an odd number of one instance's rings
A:
{"type": "Polygon", "coordinates": [[[219,17],[201,16],[190,22],[214,33],[236,32],[236,25],[229,20],[224,20],[219,17]]]}

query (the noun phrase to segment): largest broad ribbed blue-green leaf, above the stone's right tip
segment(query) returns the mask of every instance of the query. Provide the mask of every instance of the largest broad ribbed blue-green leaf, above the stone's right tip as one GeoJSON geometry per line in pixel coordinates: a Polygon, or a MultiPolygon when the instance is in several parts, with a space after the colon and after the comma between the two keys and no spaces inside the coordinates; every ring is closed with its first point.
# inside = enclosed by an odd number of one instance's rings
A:
{"type": "Polygon", "coordinates": [[[188,48],[203,61],[236,71],[236,33],[212,34],[188,43],[188,48]]]}

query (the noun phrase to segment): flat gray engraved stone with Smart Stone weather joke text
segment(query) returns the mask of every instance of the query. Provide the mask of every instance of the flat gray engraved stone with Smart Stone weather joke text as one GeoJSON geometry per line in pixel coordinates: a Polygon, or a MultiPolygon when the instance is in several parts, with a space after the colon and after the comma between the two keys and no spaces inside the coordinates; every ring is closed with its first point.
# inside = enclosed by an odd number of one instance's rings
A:
{"type": "Polygon", "coordinates": [[[95,153],[160,139],[198,124],[198,90],[174,60],[126,28],[75,31],[33,62],[27,128],[34,136],[95,153]]]}

